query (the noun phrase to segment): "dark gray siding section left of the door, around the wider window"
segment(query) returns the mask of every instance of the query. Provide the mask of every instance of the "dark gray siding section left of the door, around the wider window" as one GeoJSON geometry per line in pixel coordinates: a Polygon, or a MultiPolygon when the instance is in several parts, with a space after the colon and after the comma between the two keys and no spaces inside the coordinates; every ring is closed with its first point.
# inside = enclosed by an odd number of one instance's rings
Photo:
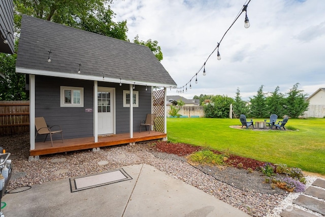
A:
{"type": "MultiPolygon", "coordinates": [[[[36,76],[35,83],[36,117],[43,116],[49,126],[61,126],[63,139],[93,136],[93,112],[85,112],[85,108],[93,108],[93,81],[36,76]],[[60,86],[83,87],[84,107],[60,107],[60,86]]],[[[39,135],[36,141],[44,138],[39,135]]],[[[60,135],[54,138],[60,139],[60,135]]]]}

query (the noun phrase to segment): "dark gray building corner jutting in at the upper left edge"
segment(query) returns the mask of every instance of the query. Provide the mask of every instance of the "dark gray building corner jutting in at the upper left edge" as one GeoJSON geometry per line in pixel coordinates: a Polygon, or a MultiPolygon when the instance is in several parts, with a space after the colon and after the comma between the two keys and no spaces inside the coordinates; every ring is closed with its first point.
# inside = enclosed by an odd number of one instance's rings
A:
{"type": "Polygon", "coordinates": [[[2,0],[0,2],[0,53],[13,54],[15,50],[13,8],[12,0],[2,0]]]}

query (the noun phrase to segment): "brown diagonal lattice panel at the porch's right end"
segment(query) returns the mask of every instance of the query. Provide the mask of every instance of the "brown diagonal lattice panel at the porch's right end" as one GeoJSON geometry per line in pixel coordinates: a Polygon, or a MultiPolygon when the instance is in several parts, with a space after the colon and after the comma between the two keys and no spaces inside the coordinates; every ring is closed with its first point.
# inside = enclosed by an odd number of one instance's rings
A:
{"type": "Polygon", "coordinates": [[[155,131],[164,133],[165,126],[165,90],[158,89],[152,92],[153,113],[155,114],[155,131]]]}

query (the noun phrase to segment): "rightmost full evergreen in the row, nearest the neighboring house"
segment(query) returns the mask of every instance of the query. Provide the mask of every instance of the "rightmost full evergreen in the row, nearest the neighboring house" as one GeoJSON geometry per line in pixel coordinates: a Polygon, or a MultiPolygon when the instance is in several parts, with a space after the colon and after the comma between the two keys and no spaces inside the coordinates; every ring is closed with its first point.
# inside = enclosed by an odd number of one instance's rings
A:
{"type": "Polygon", "coordinates": [[[298,89],[299,83],[296,83],[286,94],[285,99],[286,112],[289,117],[297,118],[308,110],[309,102],[305,100],[307,94],[304,90],[298,89]]]}

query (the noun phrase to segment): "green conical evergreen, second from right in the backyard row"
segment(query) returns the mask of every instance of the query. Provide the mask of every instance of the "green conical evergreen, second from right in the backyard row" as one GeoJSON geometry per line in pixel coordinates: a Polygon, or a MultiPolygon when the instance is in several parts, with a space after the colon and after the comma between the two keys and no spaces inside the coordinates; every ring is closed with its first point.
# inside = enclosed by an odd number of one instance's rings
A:
{"type": "Polygon", "coordinates": [[[279,117],[285,115],[284,112],[284,95],[279,92],[280,87],[277,86],[271,96],[266,98],[267,108],[269,114],[277,114],[279,117]]]}

